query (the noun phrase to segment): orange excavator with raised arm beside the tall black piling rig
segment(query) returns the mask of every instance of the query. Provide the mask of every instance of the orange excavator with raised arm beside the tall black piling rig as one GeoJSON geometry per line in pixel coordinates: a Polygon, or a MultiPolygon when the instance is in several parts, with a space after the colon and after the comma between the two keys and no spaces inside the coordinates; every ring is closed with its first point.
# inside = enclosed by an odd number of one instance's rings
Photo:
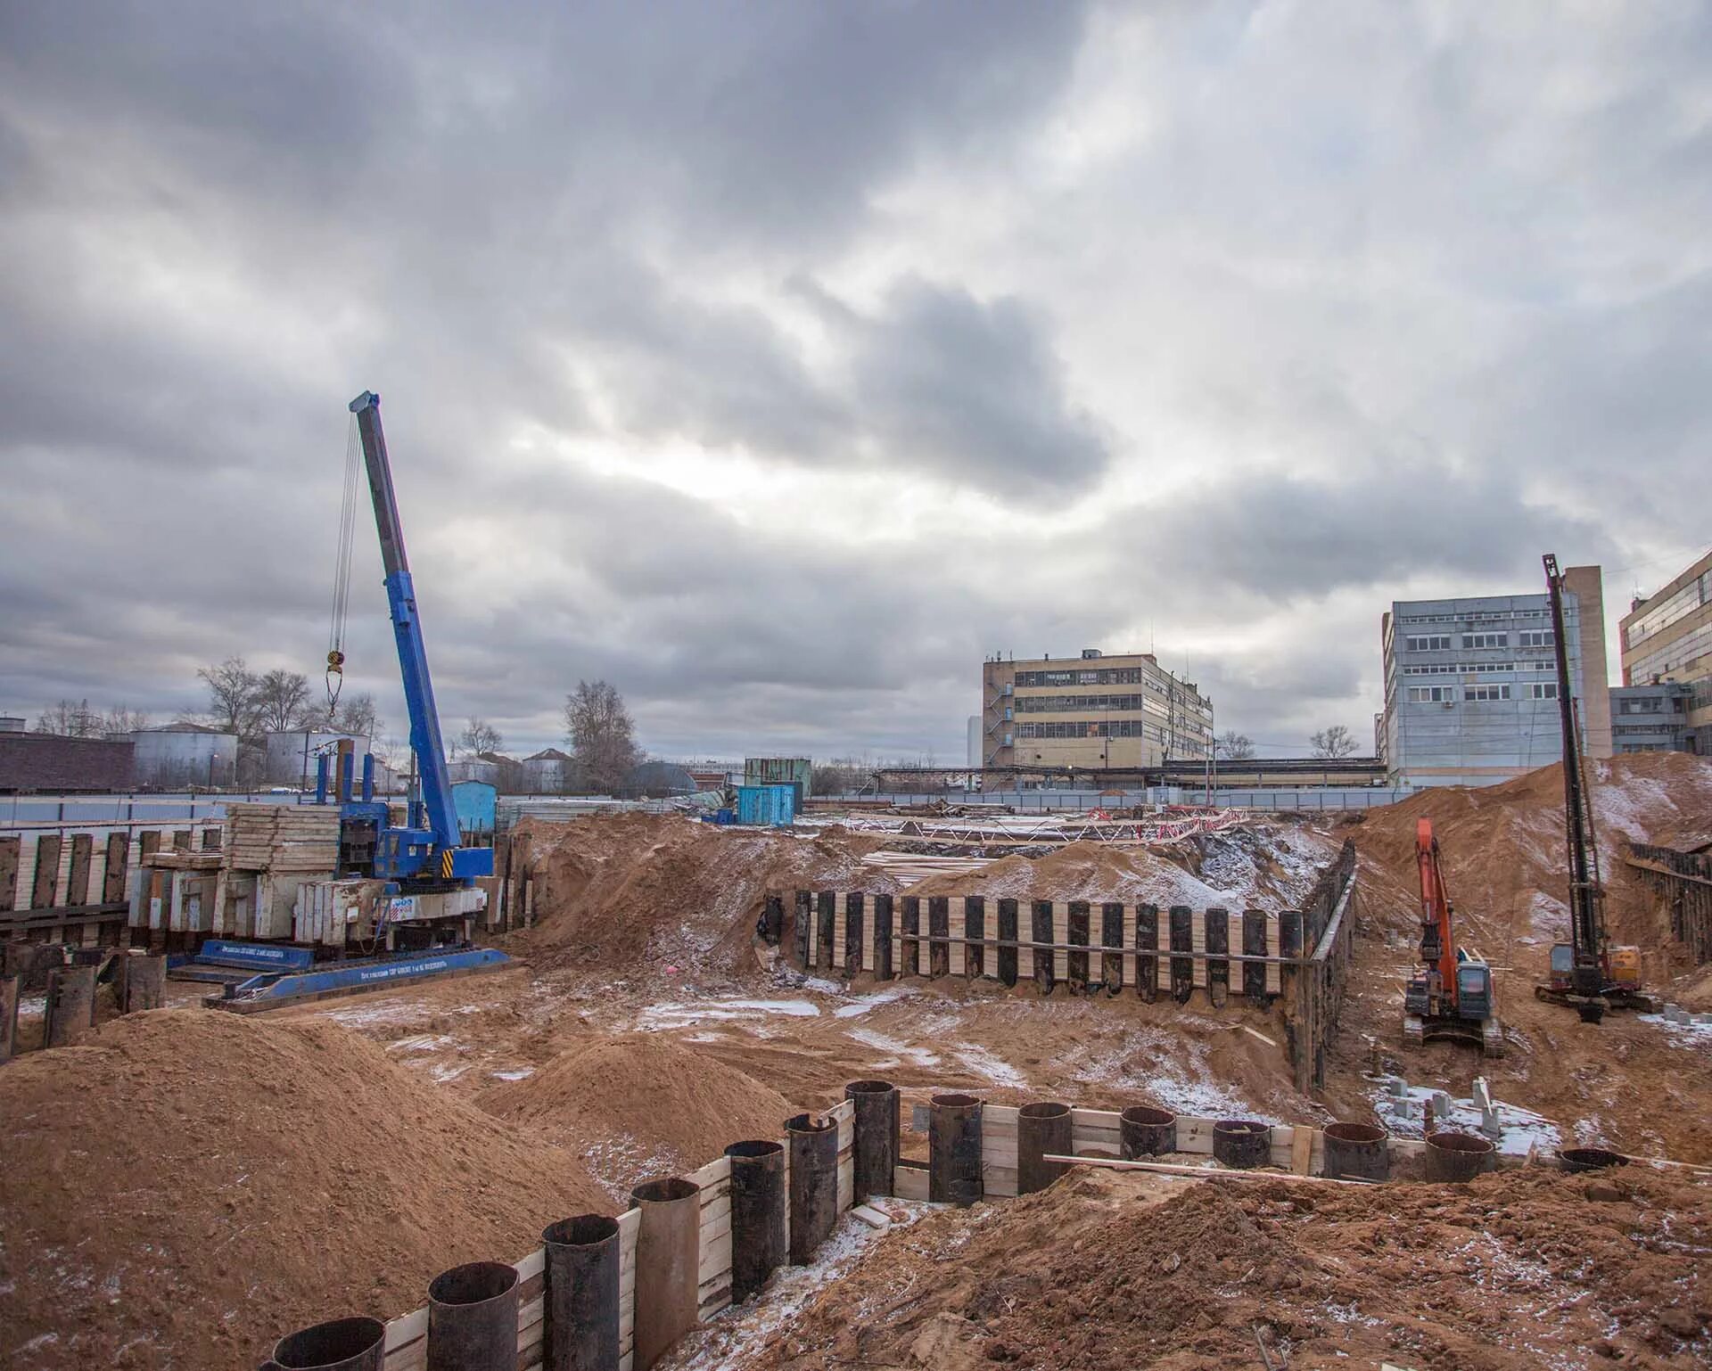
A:
{"type": "Polygon", "coordinates": [[[1503,1056],[1503,1027],[1493,994],[1493,970],[1472,948],[1457,947],[1455,909],[1445,888],[1433,820],[1414,825],[1414,859],[1421,873],[1421,962],[1402,996],[1402,1041],[1467,1042],[1486,1056],[1503,1056]]]}

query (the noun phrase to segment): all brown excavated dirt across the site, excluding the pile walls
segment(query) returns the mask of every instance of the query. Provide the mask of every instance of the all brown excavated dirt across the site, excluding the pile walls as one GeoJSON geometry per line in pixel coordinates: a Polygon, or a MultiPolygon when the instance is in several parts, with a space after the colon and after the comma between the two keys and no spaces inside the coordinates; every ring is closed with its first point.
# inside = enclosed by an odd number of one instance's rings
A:
{"type": "MultiPolygon", "coordinates": [[[[1635,1015],[1590,1027],[1532,998],[1563,936],[1560,786],[1546,769],[1358,822],[1267,820],[1171,851],[1073,844],[911,887],[1287,907],[1352,837],[1356,962],[1311,1099],[1291,1083],[1277,1010],[823,981],[757,955],[770,888],[902,888],[861,863],[873,834],[531,823],[539,919],[503,940],[512,970],[265,1020],[159,1012],[0,1070],[0,1362],[253,1364],[281,1332],[402,1313],[454,1261],[517,1256],[551,1219],[616,1212],[645,1176],[777,1137],[858,1077],[911,1102],[964,1089],[1323,1123],[1371,1116],[1375,1065],[1460,1095],[1484,1075],[1565,1143],[1712,1162],[1712,1034],[1635,1015]],[[1498,967],[1503,1061],[1400,1046],[1418,815],[1438,825],[1462,940],[1498,967]]],[[[1647,950],[1656,989],[1712,1003],[1712,970],[1676,960],[1621,863],[1625,837],[1712,837],[1712,765],[1601,763],[1594,803],[1613,931],[1647,950]]],[[[1385,1198],[1084,1176],[883,1237],[885,1260],[825,1292],[801,1342],[762,1364],[1258,1366],[1251,1321],[1293,1368],[1330,1366],[1334,1349],[1344,1366],[1388,1356],[1416,1371],[1604,1366],[1601,1340],[1614,1364],[1705,1364],[1705,1292],[1683,1275],[1712,1256],[1705,1191],[1650,1172],[1623,1186],[1592,1205],[1536,1172],[1385,1198]]]]}

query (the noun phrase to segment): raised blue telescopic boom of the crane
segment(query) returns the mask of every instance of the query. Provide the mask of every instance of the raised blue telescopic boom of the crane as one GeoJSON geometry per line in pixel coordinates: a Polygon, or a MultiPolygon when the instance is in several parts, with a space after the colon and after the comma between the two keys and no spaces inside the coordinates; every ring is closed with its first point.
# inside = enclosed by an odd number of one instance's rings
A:
{"type": "MultiPolygon", "coordinates": [[[[387,606],[392,616],[392,635],[399,647],[399,671],[404,678],[404,705],[411,715],[411,750],[416,753],[416,770],[421,782],[423,811],[428,820],[428,837],[433,852],[423,869],[440,876],[486,875],[469,863],[457,861],[459,830],[457,810],[452,803],[452,780],[445,765],[445,745],[440,739],[440,714],[433,700],[433,678],[428,674],[428,649],[423,644],[421,613],[416,608],[416,591],[411,585],[411,565],[404,551],[404,529],[399,524],[399,502],[392,486],[392,464],[387,459],[387,436],[380,426],[380,395],[365,390],[351,401],[358,435],[363,440],[363,466],[368,469],[368,491],[375,502],[375,529],[380,532],[380,561],[385,570],[387,606]],[[437,869],[438,868],[438,869],[437,869]]],[[[411,835],[413,830],[390,830],[411,835]]],[[[404,844],[421,847],[426,844],[404,844]]],[[[404,852],[397,852],[402,858],[404,852]]],[[[486,854],[491,863],[491,854],[486,854]]],[[[488,866],[491,869],[491,864],[488,866]]],[[[407,866],[399,875],[407,875],[407,866]]]]}

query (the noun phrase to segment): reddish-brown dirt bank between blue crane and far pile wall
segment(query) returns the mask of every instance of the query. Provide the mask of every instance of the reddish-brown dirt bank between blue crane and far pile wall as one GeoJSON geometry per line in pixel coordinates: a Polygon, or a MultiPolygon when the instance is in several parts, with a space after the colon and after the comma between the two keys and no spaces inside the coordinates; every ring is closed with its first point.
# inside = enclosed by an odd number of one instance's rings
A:
{"type": "Polygon", "coordinates": [[[753,969],[750,940],[769,890],[897,890],[861,864],[878,839],[717,828],[680,816],[529,820],[538,926],[515,940],[532,965],[707,979],[753,969]]]}

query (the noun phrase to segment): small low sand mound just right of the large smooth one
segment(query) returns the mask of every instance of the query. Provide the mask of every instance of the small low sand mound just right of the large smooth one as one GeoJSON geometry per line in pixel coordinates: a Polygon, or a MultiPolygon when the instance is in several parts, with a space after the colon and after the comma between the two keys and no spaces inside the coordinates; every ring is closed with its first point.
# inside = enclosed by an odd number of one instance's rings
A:
{"type": "Polygon", "coordinates": [[[575,1150],[615,1200],[649,1176],[695,1171],[740,1138],[779,1138],[777,1090],[659,1034],[597,1037],[481,1106],[575,1150]]]}

